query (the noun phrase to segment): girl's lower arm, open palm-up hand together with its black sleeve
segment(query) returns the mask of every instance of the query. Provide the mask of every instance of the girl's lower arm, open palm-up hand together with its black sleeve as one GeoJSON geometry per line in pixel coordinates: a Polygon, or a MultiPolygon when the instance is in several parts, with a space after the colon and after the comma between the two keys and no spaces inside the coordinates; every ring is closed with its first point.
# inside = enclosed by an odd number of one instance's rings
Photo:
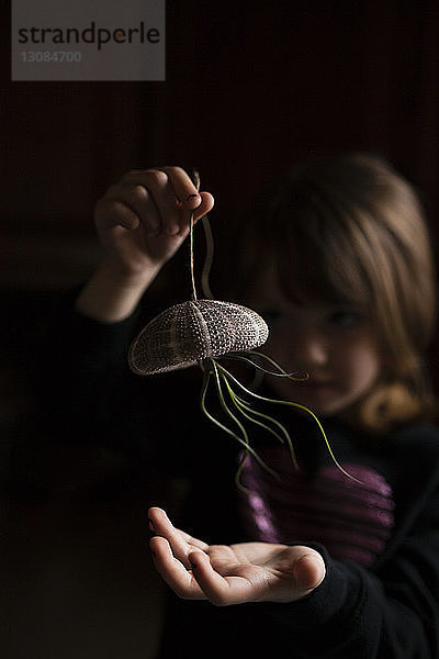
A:
{"type": "MultiPolygon", "coordinates": [[[[376,572],[335,560],[319,545],[318,552],[267,543],[209,546],[173,528],[160,509],[149,511],[157,534],[150,547],[157,570],[183,600],[257,603],[260,629],[252,627],[256,610],[239,618],[255,648],[272,635],[274,648],[309,659],[434,659],[439,657],[438,496],[376,572]]],[[[218,626],[210,619],[214,639],[218,626]]]]}

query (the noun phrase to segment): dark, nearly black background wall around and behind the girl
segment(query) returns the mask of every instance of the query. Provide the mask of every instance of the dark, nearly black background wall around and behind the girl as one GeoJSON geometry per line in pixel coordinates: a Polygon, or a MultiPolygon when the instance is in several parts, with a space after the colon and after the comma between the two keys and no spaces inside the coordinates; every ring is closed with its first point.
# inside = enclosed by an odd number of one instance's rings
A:
{"type": "MultiPolygon", "coordinates": [[[[26,387],[34,337],[98,261],[93,204],[132,168],[196,167],[216,200],[214,232],[222,226],[226,235],[258,187],[285,166],[339,150],[379,152],[417,187],[436,246],[439,3],[169,0],[165,82],[11,82],[9,29],[4,9],[0,469],[13,513],[8,650],[11,658],[149,657],[161,590],[148,563],[144,517],[161,485],[134,483],[90,504],[95,482],[124,471],[121,456],[40,450],[26,387]]],[[[434,346],[435,380],[437,354],[434,346]]]]}

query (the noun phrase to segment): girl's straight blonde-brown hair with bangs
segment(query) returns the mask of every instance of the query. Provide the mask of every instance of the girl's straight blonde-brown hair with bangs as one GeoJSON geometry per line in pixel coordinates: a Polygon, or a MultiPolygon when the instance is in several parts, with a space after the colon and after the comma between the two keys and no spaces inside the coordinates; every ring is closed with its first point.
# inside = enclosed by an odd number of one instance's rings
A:
{"type": "Polygon", "coordinates": [[[372,311],[389,357],[380,382],[351,409],[352,423],[381,434],[430,414],[423,361],[436,321],[430,239],[414,188],[390,164],[347,154],[302,165],[263,191],[243,232],[241,282],[274,254],[280,283],[299,303],[314,297],[372,311]]]}

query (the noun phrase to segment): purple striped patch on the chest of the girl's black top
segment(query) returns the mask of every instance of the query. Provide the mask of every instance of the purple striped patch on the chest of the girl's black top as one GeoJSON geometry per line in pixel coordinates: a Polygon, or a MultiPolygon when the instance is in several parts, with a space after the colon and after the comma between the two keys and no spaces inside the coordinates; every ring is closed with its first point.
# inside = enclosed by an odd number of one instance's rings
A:
{"type": "Polygon", "coordinates": [[[239,510],[250,537],[266,543],[317,541],[333,558],[364,567],[382,554],[394,524],[394,502],[392,488],[378,471],[342,465],[360,483],[336,465],[308,476],[296,471],[281,448],[258,453],[280,480],[248,456],[241,480],[249,492],[239,494],[239,510]]]}

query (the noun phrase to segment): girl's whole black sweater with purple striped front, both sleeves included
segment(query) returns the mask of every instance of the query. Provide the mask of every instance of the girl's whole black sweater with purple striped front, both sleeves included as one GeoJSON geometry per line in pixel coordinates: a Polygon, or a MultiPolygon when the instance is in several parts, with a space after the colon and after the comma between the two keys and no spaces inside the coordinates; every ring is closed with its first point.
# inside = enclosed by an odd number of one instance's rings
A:
{"type": "Polygon", "coordinates": [[[131,373],[135,332],[135,317],[104,325],[71,311],[64,316],[41,373],[53,427],[189,477],[178,522],[207,543],[307,544],[327,570],[311,595],[291,604],[219,608],[170,594],[160,657],[438,659],[438,429],[416,424],[371,439],[324,420],[338,461],[358,484],[334,466],[313,421],[282,412],[301,471],[290,469],[275,439],[256,436],[260,455],[283,473],[275,484],[247,461],[249,496],[234,483],[239,447],[202,417],[198,369],[131,373]]]}

